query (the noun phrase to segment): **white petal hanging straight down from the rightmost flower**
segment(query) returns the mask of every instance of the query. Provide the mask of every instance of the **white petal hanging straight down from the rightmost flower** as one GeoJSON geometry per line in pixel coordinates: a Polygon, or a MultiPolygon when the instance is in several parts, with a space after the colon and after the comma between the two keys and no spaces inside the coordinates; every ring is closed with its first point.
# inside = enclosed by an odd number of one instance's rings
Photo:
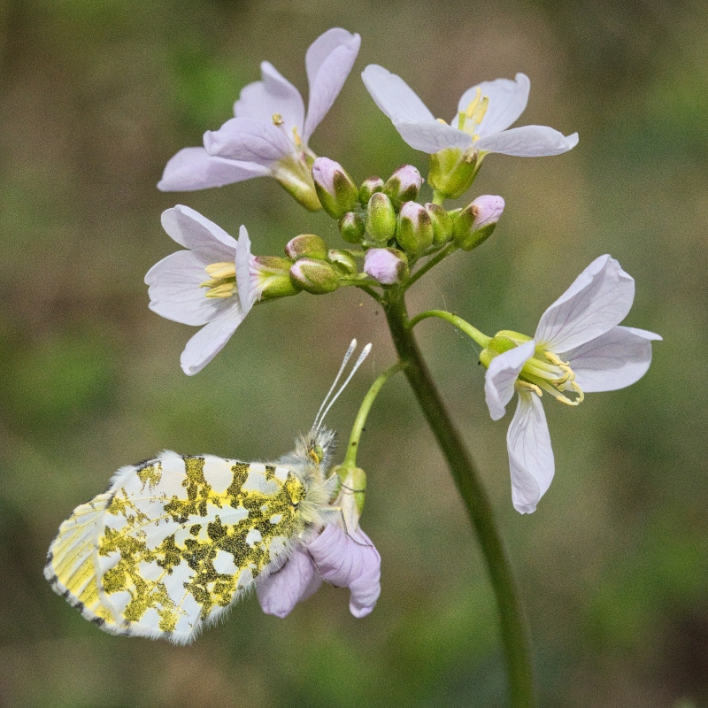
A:
{"type": "Polygon", "coordinates": [[[506,434],[512,473],[512,503],[521,514],[535,512],[553,480],[556,464],[541,398],[519,391],[519,404],[506,434]]]}

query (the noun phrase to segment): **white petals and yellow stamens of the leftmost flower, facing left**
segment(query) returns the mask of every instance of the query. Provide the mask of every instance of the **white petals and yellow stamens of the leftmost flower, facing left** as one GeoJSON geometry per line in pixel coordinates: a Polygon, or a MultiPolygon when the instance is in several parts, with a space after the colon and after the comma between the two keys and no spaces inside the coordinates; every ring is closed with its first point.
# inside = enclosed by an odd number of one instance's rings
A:
{"type": "Polygon", "coordinates": [[[184,373],[200,372],[234,334],[258,299],[258,281],[250,273],[250,240],[241,227],[236,241],[224,229],[189,206],[162,214],[162,226],[178,250],[150,268],[150,310],[167,319],[202,327],[181,355],[184,373]]]}

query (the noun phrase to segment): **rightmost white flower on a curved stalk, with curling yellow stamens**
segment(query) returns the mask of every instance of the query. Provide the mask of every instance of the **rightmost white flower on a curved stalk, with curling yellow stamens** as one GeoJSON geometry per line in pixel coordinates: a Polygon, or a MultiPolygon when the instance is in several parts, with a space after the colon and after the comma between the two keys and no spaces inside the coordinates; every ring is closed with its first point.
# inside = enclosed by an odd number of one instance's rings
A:
{"type": "Polygon", "coordinates": [[[484,392],[492,419],[502,418],[514,391],[519,394],[506,436],[512,502],[518,512],[534,512],[553,479],[543,391],[560,403],[576,405],[585,393],[635,383],[649,368],[651,340],[661,337],[617,326],[634,298],[634,279],[614,258],[601,256],[543,313],[533,339],[500,332],[482,351],[481,360],[488,366],[484,392]]]}

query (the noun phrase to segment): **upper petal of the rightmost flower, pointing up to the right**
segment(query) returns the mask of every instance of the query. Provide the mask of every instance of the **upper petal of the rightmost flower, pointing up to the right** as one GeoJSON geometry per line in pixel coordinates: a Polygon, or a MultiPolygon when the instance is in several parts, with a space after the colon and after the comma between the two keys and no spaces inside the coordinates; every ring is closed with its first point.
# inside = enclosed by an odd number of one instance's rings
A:
{"type": "Polygon", "coordinates": [[[620,324],[634,299],[635,279],[600,256],[543,312],[534,339],[553,352],[575,349],[620,324]]]}

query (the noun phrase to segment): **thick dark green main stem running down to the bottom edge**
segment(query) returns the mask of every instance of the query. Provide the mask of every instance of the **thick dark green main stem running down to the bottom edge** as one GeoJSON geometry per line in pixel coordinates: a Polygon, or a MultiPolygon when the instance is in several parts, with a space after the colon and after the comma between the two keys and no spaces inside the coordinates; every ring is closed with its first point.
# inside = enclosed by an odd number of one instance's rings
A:
{"type": "Polygon", "coordinates": [[[496,530],[489,498],[481,485],[473,460],[427,371],[418,344],[413,338],[403,294],[389,292],[384,309],[398,357],[405,366],[405,377],[411,384],[427,423],[450,466],[450,472],[466,504],[487,562],[496,596],[502,642],[509,671],[510,705],[512,708],[533,708],[534,687],[525,622],[512,569],[496,530]]]}

